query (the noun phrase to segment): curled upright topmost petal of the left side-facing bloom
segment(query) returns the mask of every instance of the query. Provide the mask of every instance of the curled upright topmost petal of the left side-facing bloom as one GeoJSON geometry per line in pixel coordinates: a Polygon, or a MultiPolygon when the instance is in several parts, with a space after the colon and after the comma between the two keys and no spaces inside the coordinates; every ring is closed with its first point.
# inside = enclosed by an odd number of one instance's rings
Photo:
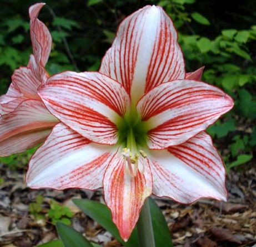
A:
{"type": "Polygon", "coordinates": [[[46,65],[52,47],[52,37],[48,28],[37,18],[43,6],[44,3],[37,3],[29,8],[33,54],[38,64],[42,62],[42,66],[46,65]]]}

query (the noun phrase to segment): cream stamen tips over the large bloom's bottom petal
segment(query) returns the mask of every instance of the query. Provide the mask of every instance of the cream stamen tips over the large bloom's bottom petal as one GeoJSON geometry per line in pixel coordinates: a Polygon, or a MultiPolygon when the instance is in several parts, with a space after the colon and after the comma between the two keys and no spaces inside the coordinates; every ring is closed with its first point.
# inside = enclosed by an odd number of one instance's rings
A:
{"type": "Polygon", "coordinates": [[[122,155],[124,158],[124,171],[130,177],[136,177],[137,172],[144,173],[145,158],[147,154],[143,150],[139,152],[131,152],[129,148],[123,148],[122,155]]]}

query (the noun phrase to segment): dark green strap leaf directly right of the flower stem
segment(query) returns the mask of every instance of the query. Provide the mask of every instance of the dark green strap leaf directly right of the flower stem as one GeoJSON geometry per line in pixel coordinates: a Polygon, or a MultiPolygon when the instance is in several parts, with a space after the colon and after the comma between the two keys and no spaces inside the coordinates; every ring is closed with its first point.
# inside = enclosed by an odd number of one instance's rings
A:
{"type": "Polygon", "coordinates": [[[152,198],[149,198],[150,213],[154,230],[155,246],[172,247],[172,239],[164,215],[152,198]]]}

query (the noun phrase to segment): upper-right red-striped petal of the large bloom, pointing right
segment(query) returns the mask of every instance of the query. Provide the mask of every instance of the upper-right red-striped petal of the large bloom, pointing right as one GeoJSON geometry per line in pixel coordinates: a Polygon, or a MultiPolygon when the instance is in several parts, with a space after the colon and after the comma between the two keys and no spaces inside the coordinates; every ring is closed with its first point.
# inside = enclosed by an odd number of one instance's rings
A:
{"type": "Polygon", "coordinates": [[[222,90],[193,80],[164,83],[144,95],[137,109],[148,128],[148,146],[179,145],[205,130],[233,107],[222,90]]]}

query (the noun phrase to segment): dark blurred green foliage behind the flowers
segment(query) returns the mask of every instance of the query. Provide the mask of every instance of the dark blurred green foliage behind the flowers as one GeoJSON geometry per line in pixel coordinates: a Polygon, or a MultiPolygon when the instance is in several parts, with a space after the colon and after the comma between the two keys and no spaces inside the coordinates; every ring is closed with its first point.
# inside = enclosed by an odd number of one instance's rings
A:
{"type": "MultiPolygon", "coordinates": [[[[0,3],[0,93],[7,91],[13,70],[27,65],[31,50],[28,7],[38,1],[0,3]]],[[[208,128],[228,171],[255,162],[256,145],[256,4],[254,1],[45,1],[39,14],[52,37],[49,74],[63,70],[98,70],[118,24],[147,4],[162,6],[179,31],[187,71],[205,66],[203,81],[231,95],[235,106],[208,128]],[[225,5],[223,5],[225,3],[225,5]],[[228,5],[229,3],[229,5],[228,5]]],[[[9,167],[24,167],[29,156],[1,158],[9,167]]]]}

